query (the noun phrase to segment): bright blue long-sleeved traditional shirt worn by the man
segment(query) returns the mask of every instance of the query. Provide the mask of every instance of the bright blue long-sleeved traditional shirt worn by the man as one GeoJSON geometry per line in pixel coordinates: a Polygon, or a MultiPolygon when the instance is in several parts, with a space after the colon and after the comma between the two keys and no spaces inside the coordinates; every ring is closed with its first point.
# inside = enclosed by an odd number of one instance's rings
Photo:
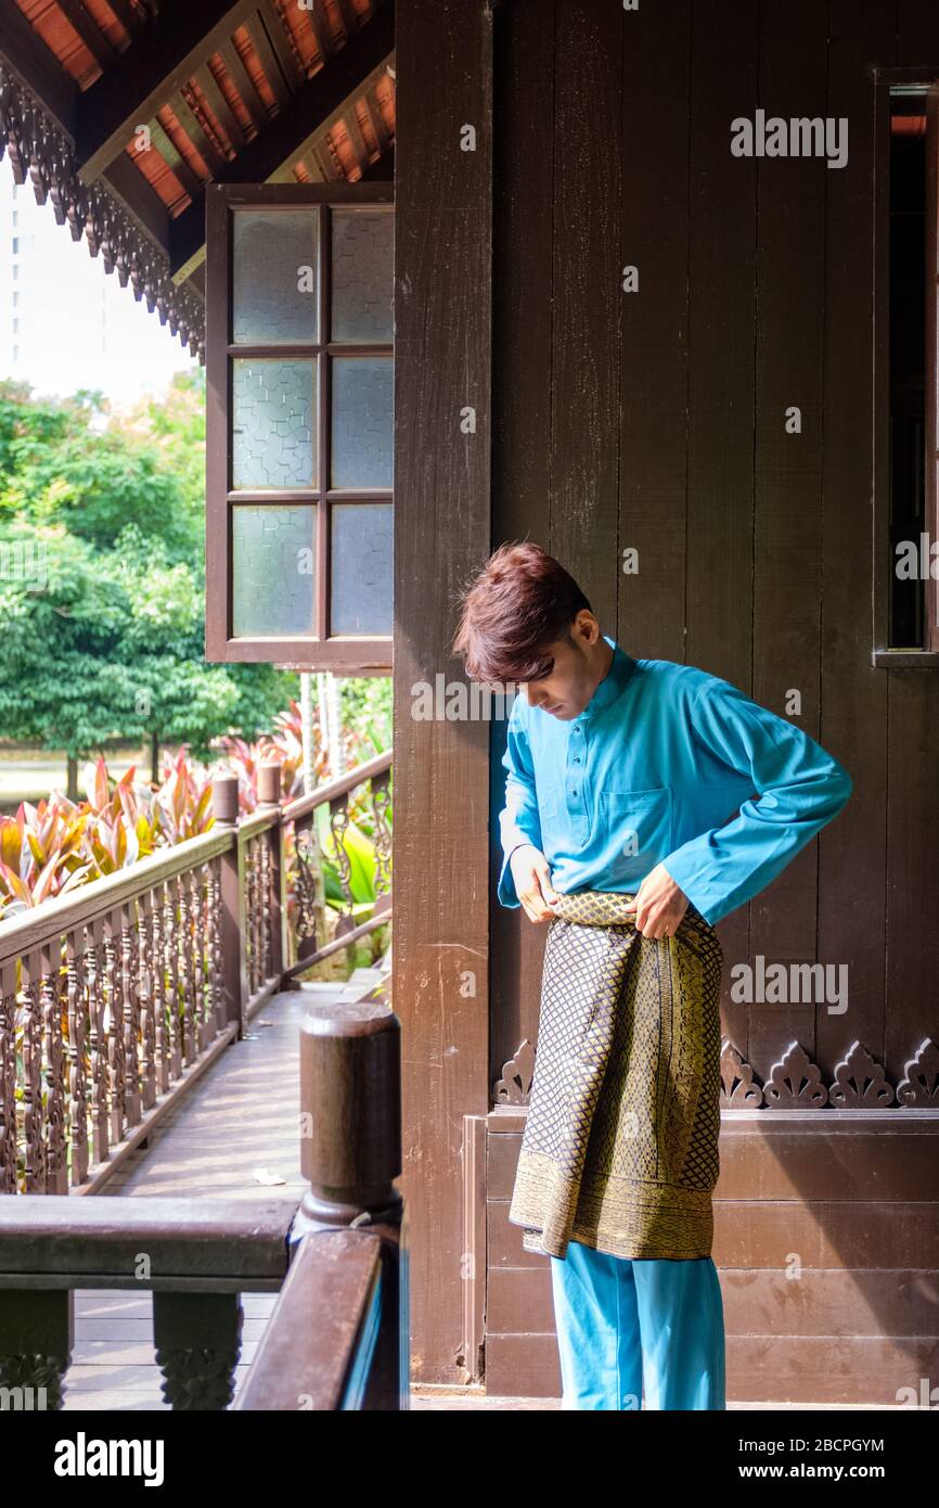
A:
{"type": "Polygon", "coordinates": [[[512,703],[497,897],[518,906],[509,858],[534,843],[564,893],[632,893],[665,864],[713,924],[841,811],[852,778],[729,682],[606,642],[612,665],[580,716],[512,703]]]}

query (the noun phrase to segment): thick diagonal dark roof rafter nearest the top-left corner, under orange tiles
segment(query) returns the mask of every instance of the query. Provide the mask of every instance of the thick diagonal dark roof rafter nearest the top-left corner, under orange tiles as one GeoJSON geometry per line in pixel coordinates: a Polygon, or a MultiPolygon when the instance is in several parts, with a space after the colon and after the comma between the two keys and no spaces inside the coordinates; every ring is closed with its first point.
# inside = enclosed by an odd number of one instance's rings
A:
{"type": "Polygon", "coordinates": [[[258,0],[164,0],[158,17],[118,62],[78,100],[75,146],[83,182],[124,151],[134,127],[149,121],[222,42],[228,41],[258,0]]]}

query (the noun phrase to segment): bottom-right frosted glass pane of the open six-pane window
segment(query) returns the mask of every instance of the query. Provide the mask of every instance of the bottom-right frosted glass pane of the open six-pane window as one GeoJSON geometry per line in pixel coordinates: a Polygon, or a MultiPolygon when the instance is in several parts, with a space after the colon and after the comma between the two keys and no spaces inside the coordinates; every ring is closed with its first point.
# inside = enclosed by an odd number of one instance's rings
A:
{"type": "Polygon", "coordinates": [[[333,504],[333,633],[392,632],[392,505],[333,504]]]}

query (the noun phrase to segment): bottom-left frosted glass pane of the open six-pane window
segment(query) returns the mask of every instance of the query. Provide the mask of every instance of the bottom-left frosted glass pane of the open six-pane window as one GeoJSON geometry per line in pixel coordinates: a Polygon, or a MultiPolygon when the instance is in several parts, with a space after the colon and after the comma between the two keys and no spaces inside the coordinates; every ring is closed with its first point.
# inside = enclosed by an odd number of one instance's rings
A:
{"type": "Polygon", "coordinates": [[[232,632],[315,633],[317,508],[232,508],[232,632]]]}

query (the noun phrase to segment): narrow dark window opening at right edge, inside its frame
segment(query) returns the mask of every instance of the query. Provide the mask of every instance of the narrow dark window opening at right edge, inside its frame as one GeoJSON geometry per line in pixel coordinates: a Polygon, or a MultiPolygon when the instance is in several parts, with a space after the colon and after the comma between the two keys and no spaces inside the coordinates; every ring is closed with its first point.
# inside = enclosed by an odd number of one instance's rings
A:
{"type": "Polygon", "coordinates": [[[906,668],[939,656],[939,84],[888,74],[879,90],[874,664],[906,668]]]}

